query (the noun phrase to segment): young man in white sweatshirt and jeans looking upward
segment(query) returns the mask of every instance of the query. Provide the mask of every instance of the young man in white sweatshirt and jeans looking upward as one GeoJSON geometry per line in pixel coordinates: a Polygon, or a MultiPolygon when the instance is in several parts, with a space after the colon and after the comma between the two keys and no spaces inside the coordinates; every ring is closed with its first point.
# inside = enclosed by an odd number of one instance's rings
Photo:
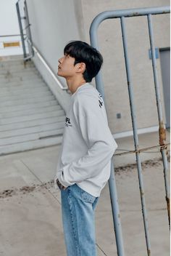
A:
{"type": "Polygon", "coordinates": [[[58,76],[66,79],[72,93],[55,177],[67,256],[96,255],[94,209],[117,148],[103,99],[89,84],[102,63],[101,54],[83,41],[67,44],[59,59],[58,76]]]}

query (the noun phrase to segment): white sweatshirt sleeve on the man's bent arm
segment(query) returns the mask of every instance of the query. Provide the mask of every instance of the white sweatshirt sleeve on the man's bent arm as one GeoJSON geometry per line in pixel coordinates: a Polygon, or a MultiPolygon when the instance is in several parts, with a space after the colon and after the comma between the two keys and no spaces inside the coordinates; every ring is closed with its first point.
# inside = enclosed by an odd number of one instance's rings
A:
{"type": "Polygon", "coordinates": [[[83,98],[78,100],[75,120],[88,151],[85,156],[63,167],[58,178],[64,187],[96,177],[109,164],[117,149],[117,143],[108,127],[105,109],[99,104],[85,106],[85,102],[83,98]]]}

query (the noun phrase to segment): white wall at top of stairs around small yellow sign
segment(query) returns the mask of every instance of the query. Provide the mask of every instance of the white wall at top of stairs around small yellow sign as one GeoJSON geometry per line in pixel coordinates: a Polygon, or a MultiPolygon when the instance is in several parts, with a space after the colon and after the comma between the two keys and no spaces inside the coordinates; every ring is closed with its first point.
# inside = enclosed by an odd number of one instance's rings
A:
{"type": "Polygon", "coordinates": [[[0,0],[0,56],[22,55],[20,36],[9,36],[20,34],[15,2],[16,0],[0,0]],[[20,47],[4,48],[4,42],[14,41],[20,41],[20,47]]]}

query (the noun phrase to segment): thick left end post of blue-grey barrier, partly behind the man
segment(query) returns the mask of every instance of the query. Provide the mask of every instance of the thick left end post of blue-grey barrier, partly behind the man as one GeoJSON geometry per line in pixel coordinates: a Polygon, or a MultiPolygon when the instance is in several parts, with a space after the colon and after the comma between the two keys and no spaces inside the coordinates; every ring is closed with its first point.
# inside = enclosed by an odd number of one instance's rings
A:
{"type": "MultiPolygon", "coordinates": [[[[91,46],[99,49],[98,41],[97,41],[97,33],[96,29],[90,29],[90,38],[91,38],[91,46]]],[[[104,99],[104,83],[101,75],[101,71],[96,76],[96,89],[100,92],[101,96],[104,99]]],[[[105,99],[104,99],[105,102],[105,99]]],[[[111,173],[109,177],[109,193],[110,193],[110,200],[112,205],[112,217],[114,223],[114,233],[116,238],[117,244],[117,255],[118,256],[125,256],[124,252],[124,245],[123,245],[123,238],[122,238],[122,226],[120,221],[120,209],[117,199],[117,186],[114,176],[114,166],[111,161],[111,173]]]]}

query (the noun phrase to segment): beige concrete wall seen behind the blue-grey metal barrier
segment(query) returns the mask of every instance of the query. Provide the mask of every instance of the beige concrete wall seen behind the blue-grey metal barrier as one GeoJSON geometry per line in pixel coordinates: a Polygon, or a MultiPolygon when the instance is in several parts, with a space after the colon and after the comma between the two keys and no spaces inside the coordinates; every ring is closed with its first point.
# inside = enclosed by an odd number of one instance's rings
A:
{"type": "MultiPolygon", "coordinates": [[[[91,22],[100,12],[106,10],[166,6],[170,5],[170,1],[91,0],[90,4],[90,1],[82,0],[82,5],[86,41],[89,41],[91,22]]],[[[129,17],[126,19],[136,116],[138,119],[138,128],[141,129],[158,125],[154,79],[151,60],[149,60],[150,45],[146,20],[146,17],[129,17]]],[[[169,47],[169,15],[153,16],[153,23],[155,47],[169,47]]],[[[113,133],[129,131],[132,129],[132,124],[119,19],[105,20],[101,23],[99,26],[99,47],[104,56],[103,77],[109,126],[113,133]],[[117,119],[117,113],[121,113],[121,119],[117,119]]],[[[159,59],[157,59],[157,69],[162,94],[162,77],[159,59]]]]}

